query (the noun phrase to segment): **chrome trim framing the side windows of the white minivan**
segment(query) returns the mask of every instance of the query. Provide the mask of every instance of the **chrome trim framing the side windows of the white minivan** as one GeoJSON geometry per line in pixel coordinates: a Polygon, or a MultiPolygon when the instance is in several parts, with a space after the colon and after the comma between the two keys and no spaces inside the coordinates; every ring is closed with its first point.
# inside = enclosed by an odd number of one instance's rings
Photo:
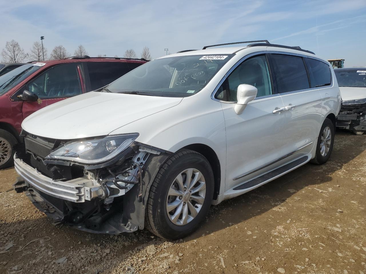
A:
{"type": "MultiPolygon", "coordinates": [[[[293,56],[298,56],[298,57],[306,57],[306,58],[311,58],[311,59],[315,59],[317,61],[321,61],[324,64],[327,64],[330,68],[330,65],[325,62],[324,60],[321,60],[317,57],[313,57],[313,56],[307,56],[307,55],[303,55],[303,54],[298,54],[298,53],[292,53],[292,52],[276,52],[276,51],[261,51],[261,52],[253,52],[250,53],[246,56],[244,56],[243,58],[241,58],[238,62],[236,62],[236,64],[234,66],[231,67],[231,69],[228,70],[228,72],[225,74],[225,76],[223,77],[223,79],[221,79],[221,81],[219,82],[219,84],[216,86],[216,88],[213,90],[212,94],[211,94],[211,99],[217,102],[221,102],[221,103],[227,103],[227,104],[232,104],[232,103],[236,103],[232,102],[232,101],[224,101],[224,100],[220,100],[220,99],[216,99],[215,98],[215,94],[217,92],[217,90],[219,90],[219,88],[221,87],[221,85],[224,83],[224,81],[227,79],[227,77],[234,71],[234,69],[236,69],[240,64],[242,64],[242,62],[244,62],[245,60],[249,59],[250,57],[253,56],[257,56],[257,55],[262,55],[262,54],[283,54],[283,55],[293,55],[293,56]]],[[[309,73],[309,72],[307,72],[309,73]]],[[[284,92],[284,93],[276,93],[276,94],[270,94],[270,95],[266,95],[266,96],[260,96],[260,97],[256,97],[253,101],[257,100],[257,99],[263,99],[263,98],[268,98],[268,97],[273,97],[273,96],[278,96],[278,95],[286,95],[286,94],[292,94],[292,93],[297,93],[297,92],[303,92],[303,91],[311,91],[311,90],[319,90],[321,88],[332,88],[334,85],[334,81],[333,81],[333,73],[332,73],[332,69],[330,68],[330,77],[331,77],[331,83],[330,85],[325,85],[323,87],[314,87],[314,88],[306,88],[305,90],[295,90],[295,91],[289,91],[289,92],[284,92]]],[[[273,83],[272,83],[273,84],[273,83]]]]}

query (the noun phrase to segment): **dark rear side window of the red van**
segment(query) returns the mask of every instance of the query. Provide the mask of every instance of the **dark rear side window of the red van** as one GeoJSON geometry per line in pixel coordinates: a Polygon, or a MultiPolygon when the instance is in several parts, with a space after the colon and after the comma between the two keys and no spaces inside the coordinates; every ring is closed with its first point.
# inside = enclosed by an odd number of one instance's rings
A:
{"type": "Polygon", "coordinates": [[[91,90],[104,87],[130,70],[125,62],[87,62],[91,90]]]}

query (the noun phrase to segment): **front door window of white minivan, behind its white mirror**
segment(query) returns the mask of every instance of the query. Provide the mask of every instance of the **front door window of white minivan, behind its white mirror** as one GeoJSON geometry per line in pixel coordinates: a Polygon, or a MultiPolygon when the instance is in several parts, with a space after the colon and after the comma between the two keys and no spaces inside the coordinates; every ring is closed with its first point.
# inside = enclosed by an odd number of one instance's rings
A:
{"type": "Polygon", "coordinates": [[[240,64],[228,77],[228,100],[236,101],[236,92],[240,84],[253,85],[257,88],[257,97],[272,94],[269,68],[266,57],[255,56],[240,64]]]}

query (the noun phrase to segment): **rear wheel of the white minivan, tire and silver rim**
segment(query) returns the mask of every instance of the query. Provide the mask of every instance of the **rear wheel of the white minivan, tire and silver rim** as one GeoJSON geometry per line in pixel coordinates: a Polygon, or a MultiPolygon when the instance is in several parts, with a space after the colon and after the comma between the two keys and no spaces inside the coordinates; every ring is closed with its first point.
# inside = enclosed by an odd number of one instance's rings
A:
{"type": "Polygon", "coordinates": [[[328,161],[333,150],[333,144],[334,125],[329,118],[326,118],[320,129],[315,158],[311,160],[311,163],[319,165],[328,161]]]}

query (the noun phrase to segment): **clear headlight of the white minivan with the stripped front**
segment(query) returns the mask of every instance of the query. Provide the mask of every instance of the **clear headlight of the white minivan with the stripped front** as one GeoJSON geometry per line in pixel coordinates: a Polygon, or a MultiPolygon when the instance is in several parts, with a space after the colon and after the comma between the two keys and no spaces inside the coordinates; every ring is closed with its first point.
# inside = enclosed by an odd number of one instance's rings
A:
{"type": "Polygon", "coordinates": [[[67,142],[51,152],[46,159],[68,160],[83,164],[102,163],[124,151],[138,136],[138,133],[131,133],[67,142]]]}

